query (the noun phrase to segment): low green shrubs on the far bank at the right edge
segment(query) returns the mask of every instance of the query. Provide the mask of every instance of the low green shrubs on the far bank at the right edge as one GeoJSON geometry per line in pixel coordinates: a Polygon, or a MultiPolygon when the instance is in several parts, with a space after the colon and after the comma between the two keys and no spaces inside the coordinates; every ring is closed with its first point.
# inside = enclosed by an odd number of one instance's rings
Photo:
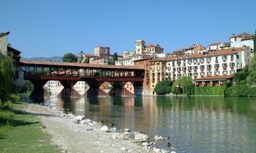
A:
{"type": "Polygon", "coordinates": [[[227,97],[256,97],[256,87],[248,86],[246,84],[233,85],[225,91],[227,97]]]}

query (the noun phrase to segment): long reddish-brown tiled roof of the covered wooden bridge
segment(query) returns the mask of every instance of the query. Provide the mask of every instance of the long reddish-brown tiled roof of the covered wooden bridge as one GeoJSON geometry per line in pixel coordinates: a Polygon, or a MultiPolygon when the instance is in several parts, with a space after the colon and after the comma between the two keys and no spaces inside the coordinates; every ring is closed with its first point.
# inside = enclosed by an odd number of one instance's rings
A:
{"type": "Polygon", "coordinates": [[[76,68],[94,68],[94,69],[137,69],[144,70],[143,67],[138,66],[124,66],[124,65],[94,65],[87,63],[65,63],[65,62],[53,62],[53,61],[31,61],[20,60],[21,66],[35,66],[38,67],[76,67],[76,68]]]}

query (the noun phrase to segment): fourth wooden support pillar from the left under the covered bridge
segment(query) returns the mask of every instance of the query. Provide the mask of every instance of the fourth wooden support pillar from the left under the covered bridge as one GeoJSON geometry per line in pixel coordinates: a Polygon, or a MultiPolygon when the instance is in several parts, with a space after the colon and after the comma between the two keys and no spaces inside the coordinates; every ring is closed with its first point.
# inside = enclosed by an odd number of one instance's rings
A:
{"type": "Polygon", "coordinates": [[[110,90],[109,95],[114,96],[134,96],[132,92],[124,88],[127,82],[109,82],[113,88],[110,90]]]}

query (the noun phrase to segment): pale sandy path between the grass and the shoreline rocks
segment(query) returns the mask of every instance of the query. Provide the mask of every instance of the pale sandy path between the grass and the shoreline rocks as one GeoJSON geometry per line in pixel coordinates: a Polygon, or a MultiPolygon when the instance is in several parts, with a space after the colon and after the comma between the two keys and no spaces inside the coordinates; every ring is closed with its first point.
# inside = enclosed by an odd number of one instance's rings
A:
{"type": "Polygon", "coordinates": [[[45,126],[44,131],[52,135],[51,141],[60,146],[63,152],[150,152],[131,141],[113,139],[112,133],[74,124],[70,118],[60,116],[47,107],[29,104],[24,110],[40,118],[45,126]]]}

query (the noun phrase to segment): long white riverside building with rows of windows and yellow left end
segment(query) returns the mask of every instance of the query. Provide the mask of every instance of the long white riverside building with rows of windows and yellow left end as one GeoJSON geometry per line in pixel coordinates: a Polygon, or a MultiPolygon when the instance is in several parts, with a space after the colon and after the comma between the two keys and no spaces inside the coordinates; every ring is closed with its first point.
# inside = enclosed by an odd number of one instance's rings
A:
{"type": "MultiPolygon", "coordinates": [[[[250,47],[244,46],[243,48],[221,49],[204,54],[153,58],[150,61],[150,88],[154,90],[159,81],[176,80],[182,76],[190,76],[194,80],[200,78],[210,80],[212,76],[233,75],[251,61],[251,52],[253,50],[250,47]]],[[[215,79],[221,79],[221,77],[215,79]]],[[[154,95],[154,92],[152,94],[154,95]]]]}

